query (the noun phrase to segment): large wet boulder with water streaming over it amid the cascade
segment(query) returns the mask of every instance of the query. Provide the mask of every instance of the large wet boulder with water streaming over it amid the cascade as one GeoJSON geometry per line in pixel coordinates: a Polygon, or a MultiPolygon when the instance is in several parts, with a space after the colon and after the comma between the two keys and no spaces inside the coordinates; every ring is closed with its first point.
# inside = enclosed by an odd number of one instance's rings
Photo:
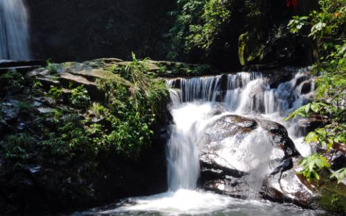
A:
{"type": "Polygon", "coordinates": [[[199,186],[233,197],[262,196],[311,207],[316,195],[296,174],[299,156],[284,126],[271,120],[220,116],[200,143],[199,186]]]}

